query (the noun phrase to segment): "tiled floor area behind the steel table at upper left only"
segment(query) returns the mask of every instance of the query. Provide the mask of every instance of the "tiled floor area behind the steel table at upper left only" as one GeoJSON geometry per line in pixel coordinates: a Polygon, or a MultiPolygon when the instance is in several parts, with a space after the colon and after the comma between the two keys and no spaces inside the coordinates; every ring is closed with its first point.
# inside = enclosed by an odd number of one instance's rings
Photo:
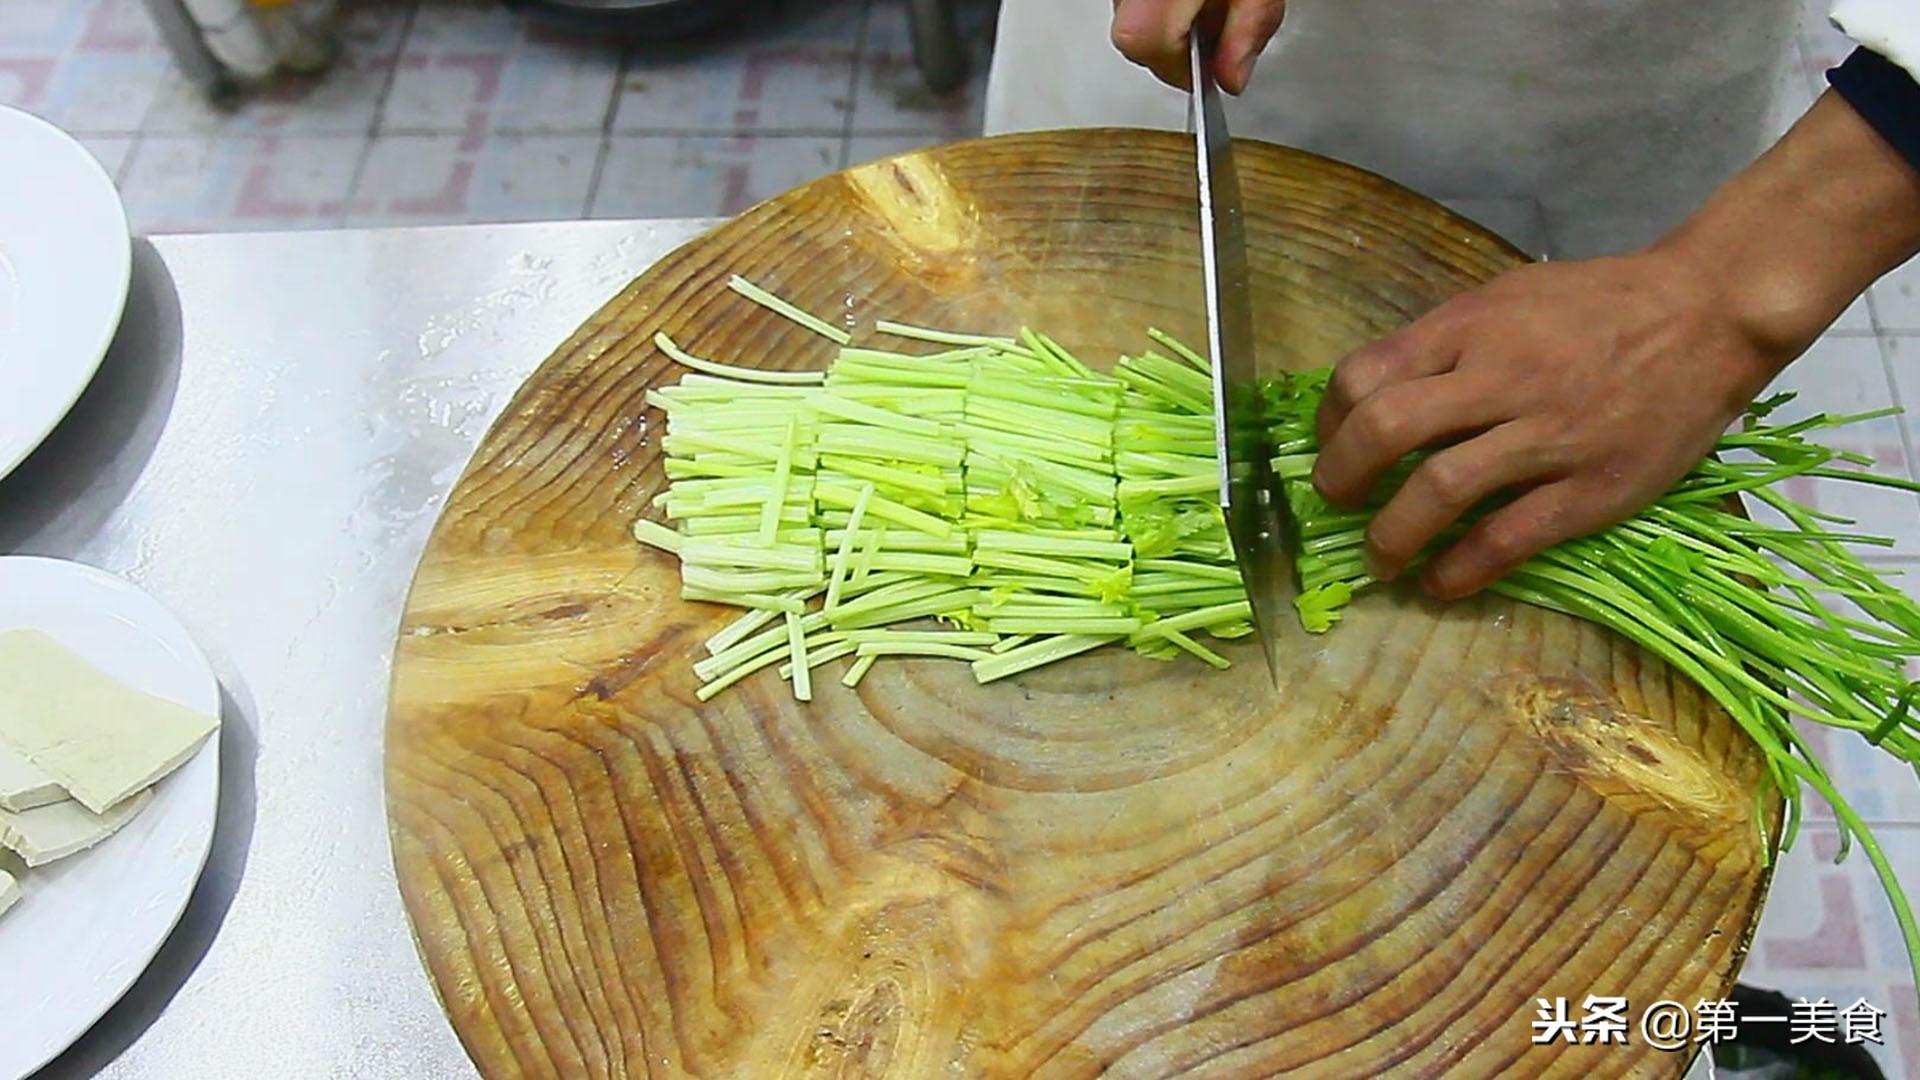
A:
{"type": "Polygon", "coordinates": [[[321,77],[217,106],[140,0],[0,2],[0,104],[81,136],[142,233],[728,215],[854,161],[977,135],[935,98],[900,0],[762,2],[753,35],[620,44],[499,0],[346,0],[321,77]]]}

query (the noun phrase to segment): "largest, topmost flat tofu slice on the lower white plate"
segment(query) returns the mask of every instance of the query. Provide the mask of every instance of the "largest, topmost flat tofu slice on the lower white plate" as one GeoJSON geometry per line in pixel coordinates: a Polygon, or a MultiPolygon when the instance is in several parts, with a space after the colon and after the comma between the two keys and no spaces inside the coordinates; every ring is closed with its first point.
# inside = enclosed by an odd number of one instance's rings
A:
{"type": "Polygon", "coordinates": [[[152,788],[219,726],[134,690],[38,630],[0,632],[0,746],[94,813],[152,788]]]}

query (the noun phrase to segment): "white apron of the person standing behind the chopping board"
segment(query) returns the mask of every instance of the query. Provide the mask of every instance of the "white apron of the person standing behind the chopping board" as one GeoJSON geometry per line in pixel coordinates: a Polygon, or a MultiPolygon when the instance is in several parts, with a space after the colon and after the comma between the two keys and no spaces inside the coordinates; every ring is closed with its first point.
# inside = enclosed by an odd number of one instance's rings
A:
{"type": "MultiPolygon", "coordinates": [[[[1187,129],[1112,0],[1002,0],[987,133],[1187,129]]],[[[1657,238],[1774,135],[1799,0],[1294,0],[1236,136],[1315,150],[1578,258],[1657,238]],[[1521,221],[1524,208],[1538,221],[1521,221]]]]}

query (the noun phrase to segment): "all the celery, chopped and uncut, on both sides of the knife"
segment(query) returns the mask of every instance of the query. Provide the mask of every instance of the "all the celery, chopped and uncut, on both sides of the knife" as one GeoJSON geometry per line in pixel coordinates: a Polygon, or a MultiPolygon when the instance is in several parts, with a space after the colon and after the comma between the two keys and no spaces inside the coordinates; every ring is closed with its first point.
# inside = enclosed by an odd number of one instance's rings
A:
{"type": "MultiPolygon", "coordinates": [[[[879,657],[968,661],[991,682],[1125,642],[1142,655],[1227,659],[1200,638],[1250,632],[1219,511],[1208,361],[1158,331],[1140,356],[1096,373],[1046,334],[985,336],[881,321],[895,352],[851,336],[745,279],[741,296],[839,346],[824,373],[703,359],[649,394],[668,415],[670,486],[634,536],[680,557],[682,596],[743,607],[693,665],[705,701],[774,667],[812,698],[812,671],[847,659],[854,686],[879,657]],[[1164,350],[1164,352],[1160,352],[1164,350]]],[[[1311,484],[1313,417],[1327,371],[1267,386],[1273,467],[1298,528],[1298,613],[1315,632],[1377,584],[1367,523],[1417,467],[1402,461],[1363,509],[1311,484]]],[[[1893,905],[1920,978],[1920,926],[1885,851],[1793,719],[1853,732],[1920,773],[1920,603],[1866,567],[1847,532],[1776,490],[1822,477],[1920,490],[1839,465],[1811,432],[1874,419],[1766,423],[1755,404],[1665,498],[1597,534],[1559,544],[1494,586],[1524,603],[1609,626],[1693,678],[1753,738],[1788,805],[1801,788],[1834,807],[1841,857],[1857,842],[1893,905]],[[1749,496],[1782,525],[1728,509],[1749,496]],[[1851,605],[1849,611],[1834,607],[1851,605]]],[[[1482,507],[1482,511],[1488,507],[1482,507]]],[[[1438,540],[1459,536],[1478,513],[1438,540]]],[[[1772,857],[1755,790],[1753,824],[1772,857]]]]}

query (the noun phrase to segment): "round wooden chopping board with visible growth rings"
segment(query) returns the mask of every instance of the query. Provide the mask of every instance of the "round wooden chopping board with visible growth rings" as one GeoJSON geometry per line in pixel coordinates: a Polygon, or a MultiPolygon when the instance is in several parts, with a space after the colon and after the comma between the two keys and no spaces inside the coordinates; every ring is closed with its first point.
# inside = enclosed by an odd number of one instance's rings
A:
{"type": "MultiPolygon", "coordinates": [[[[1296,365],[1523,258],[1367,173],[1240,146],[1261,348],[1296,365]]],[[[1192,148],[989,138],[826,177],[687,244],[488,434],[394,657],[388,799],[420,953],[488,1076],[1674,1076],[1657,999],[1732,984],[1761,755],[1594,626],[1382,590],[1215,673],[1104,650],[975,686],[841,665],[710,703],[730,611],[628,528],[664,484],[668,331],[737,363],[843,321],[1204,340],[1192,148]],[[1626,997],[1626,1045],[1534,1045],[1626,997]]],[[[1766,807],[1774,828],[1778,801],[1766,807]]]]}

